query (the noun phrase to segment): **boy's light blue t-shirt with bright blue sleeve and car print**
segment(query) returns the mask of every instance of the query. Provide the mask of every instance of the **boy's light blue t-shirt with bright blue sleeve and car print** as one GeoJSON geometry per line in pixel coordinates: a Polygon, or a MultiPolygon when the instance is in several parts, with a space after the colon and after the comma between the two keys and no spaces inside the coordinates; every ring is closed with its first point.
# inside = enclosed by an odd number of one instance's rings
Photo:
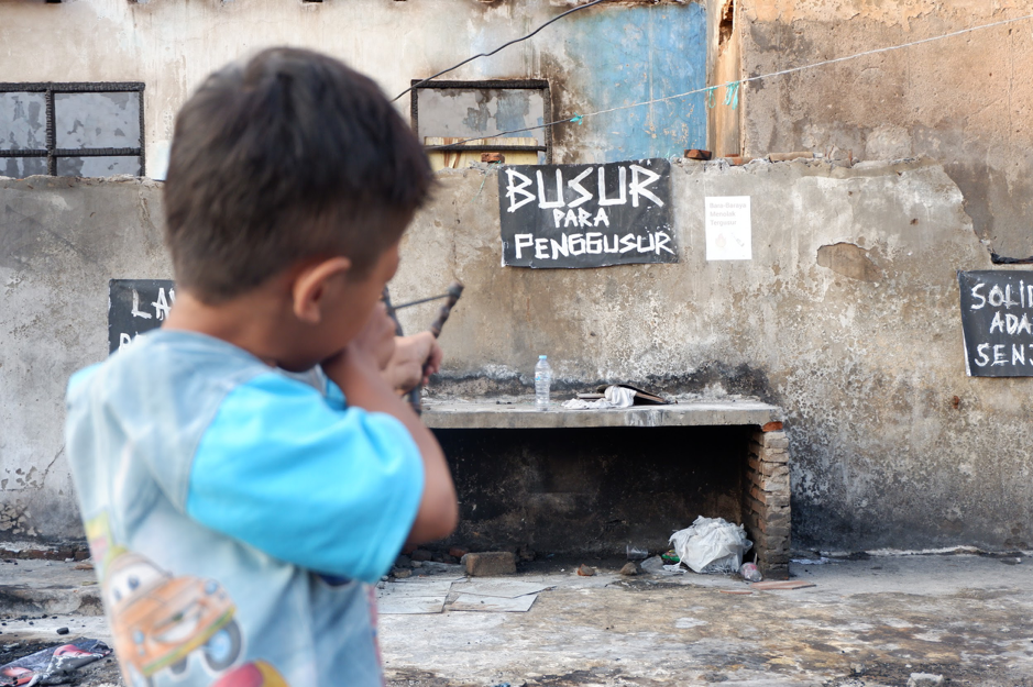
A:
{"type": "Polygon", "coordinates": [[[165,330],[73,376],[66,450],[129,685],[382,684],[367,583],[422,462],[312,378],[165,330]]]}

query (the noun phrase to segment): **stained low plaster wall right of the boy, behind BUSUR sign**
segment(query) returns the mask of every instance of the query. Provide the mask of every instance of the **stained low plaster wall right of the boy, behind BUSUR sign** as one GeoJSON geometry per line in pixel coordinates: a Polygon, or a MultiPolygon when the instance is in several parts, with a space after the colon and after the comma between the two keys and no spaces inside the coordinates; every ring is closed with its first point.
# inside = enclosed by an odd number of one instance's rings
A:
{"type": "MultiPolygon", "coordinates": [[[[453,389],[526,385],[547,353],[568,388],[781,405],[796,545],[1030,545],[1033,380],[965,375],[956,270],[991,265],[941,166],[692,164],[674,196],[678,265],[503,268],[495,179],[451,173],[393,291],[466,284],[442,335],[453,389]],[[703,199],[732,195],[752,198],[754,259],[707,263],[703,199]]],[[[422,308],[407,328],[431,320],[422,308]]]]}

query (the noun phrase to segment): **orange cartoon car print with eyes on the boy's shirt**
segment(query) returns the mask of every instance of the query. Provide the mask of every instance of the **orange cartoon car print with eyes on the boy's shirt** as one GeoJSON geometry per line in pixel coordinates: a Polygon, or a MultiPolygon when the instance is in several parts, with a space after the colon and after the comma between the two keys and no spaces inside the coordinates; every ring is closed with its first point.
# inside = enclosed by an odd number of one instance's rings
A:
{"type": "Polygon", "coordinates": [[[213,579],[172,577],[147,558],[127,552],[108,565],[103,594],[130,687],[150,687],[152,676],[165,668],[182,674],[197,650],[215,672],[240,656],[235,607],[213,579]]]}

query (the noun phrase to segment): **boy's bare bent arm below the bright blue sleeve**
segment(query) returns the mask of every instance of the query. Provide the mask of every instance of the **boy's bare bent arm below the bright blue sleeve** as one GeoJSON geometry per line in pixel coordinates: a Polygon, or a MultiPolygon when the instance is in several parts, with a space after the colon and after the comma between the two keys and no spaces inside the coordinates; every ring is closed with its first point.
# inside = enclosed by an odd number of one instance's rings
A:
{"type": "Polygon", "coordinates": [[[408,541],[427,542],[448,536],[455,529],[459,519],[455,487],[435,435],[381,375],[383,347],[393,345],[393,329],[378,307],[363,333],[322,367],[344,392],[350,406],[393,415],[413,436],[424,461],[424,494],[408,541]]]}

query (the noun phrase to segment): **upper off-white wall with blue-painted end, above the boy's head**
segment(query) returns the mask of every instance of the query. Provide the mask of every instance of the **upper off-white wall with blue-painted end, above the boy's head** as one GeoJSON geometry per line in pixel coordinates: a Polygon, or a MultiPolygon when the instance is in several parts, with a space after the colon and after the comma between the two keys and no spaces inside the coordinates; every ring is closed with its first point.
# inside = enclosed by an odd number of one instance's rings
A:
{"type": "MultiPolygon", "coordinates": [[[[367,73],[394,97],[410,79],[491,52],[567,9],[530,0],[0,0],[0,67],[4,81],[143,81],[147,174],[155,176],[175,113],[230,60],[271,45],[310,47],[367,73]]],[[[594,112],[704,86],[705,22],[694,1],[589,8],[442,78],[545,78],[549,119],[594,112]]],[[[704,147],[702,103],[694,96],[558,126],[556,162],[704,147]]],[[[398,108],[408,117],[408,96],[398,108]]]]}

